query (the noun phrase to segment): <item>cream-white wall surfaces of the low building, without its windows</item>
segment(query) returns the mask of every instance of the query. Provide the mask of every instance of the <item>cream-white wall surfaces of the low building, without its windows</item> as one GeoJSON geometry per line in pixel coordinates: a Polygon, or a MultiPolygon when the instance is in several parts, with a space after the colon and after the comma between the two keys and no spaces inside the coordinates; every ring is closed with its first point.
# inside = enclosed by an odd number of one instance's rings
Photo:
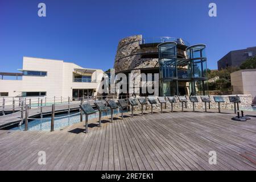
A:
{"type": "Polygon", "coordinates": [[[79,65],[65,63],[62,60],[23,57],[23,70],[45,71],[47,76],[23,76],[22,80],[0,80],[0,92],[9,92],[11,97],[21,95],[22,92],[47,92],[47,97],[72,97],[72,89],[96,89],[97,92],[104,72],[96,69],[93,73],[92,81],[97,76],[97,82],[73,82],[75,68],[82,69],[79,65]]]}

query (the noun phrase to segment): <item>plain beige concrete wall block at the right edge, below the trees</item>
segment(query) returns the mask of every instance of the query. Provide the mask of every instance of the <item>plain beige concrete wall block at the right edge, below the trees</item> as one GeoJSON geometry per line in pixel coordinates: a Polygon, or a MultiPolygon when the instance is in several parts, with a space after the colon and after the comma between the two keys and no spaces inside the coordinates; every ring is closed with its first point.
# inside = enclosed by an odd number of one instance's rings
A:
{"type": "Polygon", "coordinates": [[[231,73],[233,94],[250,94],[256,96],[256,69],[242,69],[231,73]]]}

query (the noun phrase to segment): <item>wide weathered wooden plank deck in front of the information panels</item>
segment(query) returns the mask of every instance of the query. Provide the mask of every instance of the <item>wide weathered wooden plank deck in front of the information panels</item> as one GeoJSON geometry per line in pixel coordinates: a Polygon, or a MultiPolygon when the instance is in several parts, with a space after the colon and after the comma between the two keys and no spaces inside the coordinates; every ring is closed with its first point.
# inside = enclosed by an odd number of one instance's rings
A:
{"type": "MultiPolygon", "coordinates": [[[[149,111],[148,111],[149,112],[149,111]]],[[[254,114],[255,115],[255,114],[254,114]]],[[[59,131],[0,130],[1,170],[256,170],[256,118],[174,112],[84,122],[59,131]],[[46,152],[46,165],[38,152],[46,152]],[[208,163],[209,151],[217,164],[208,163]]],[[[117,116],[115,116],[117,117],[117,116]]]]}

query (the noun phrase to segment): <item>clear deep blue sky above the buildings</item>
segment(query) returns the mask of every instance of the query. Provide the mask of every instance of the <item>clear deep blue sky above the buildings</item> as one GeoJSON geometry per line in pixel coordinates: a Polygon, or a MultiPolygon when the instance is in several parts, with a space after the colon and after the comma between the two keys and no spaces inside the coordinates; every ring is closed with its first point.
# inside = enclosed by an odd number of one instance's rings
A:
{"type": "Polygon", "coordinates": [[[1,0],[0,72],[22,68],[22,57],[60,59],[85,68],[113,68],[126,36],[172,36],[207,44],[208,68],[234,49],[256,46],[256,1],[1,0]],[[38,16],[38,3],[47,7],[38,16]],[[208,16],[210,2],[217,17],[208,16]]]}

